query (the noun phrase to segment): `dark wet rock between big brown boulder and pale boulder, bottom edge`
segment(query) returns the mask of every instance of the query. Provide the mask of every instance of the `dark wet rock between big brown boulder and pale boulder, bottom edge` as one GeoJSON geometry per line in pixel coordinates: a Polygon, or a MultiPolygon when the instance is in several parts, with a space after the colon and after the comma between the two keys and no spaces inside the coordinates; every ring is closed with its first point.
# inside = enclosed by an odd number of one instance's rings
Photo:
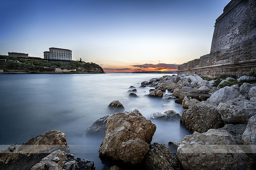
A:
{"type": "Polygon", "coordinates": [[[178,169],[179,162],[170,153],[165,144],[159,144],[154,142],[150,145],[150,150],[146,154],[143,160],[143,169],[155,170],[155,169],[178,169]]]}

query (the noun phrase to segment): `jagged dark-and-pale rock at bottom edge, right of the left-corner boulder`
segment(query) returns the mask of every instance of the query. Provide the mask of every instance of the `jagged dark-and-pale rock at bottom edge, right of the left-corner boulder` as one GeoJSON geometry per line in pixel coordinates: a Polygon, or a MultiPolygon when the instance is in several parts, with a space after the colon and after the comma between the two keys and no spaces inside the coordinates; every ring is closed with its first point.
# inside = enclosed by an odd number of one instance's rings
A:
{"type": "Polygon", "coordinates": [[[57,150],[42,160],[35,164],[31,170],[38,169],[79,169],[79,170],[94,170],[95,166],[92,161],[81,160],[80,158],[74,156],[73,154],[65,153],[63,151],[57,150]]]}

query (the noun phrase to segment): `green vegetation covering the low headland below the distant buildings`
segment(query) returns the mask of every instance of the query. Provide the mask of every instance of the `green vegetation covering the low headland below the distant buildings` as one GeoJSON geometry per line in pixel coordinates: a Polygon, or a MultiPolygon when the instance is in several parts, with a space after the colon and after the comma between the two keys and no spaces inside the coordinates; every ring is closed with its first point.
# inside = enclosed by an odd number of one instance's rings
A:
{"type": "Polygon", "coordinates": [[[16,58],[1,57],[0,59],[15,60],[15,62],[0,62],[0,69],[4,70],[23,70],[25,72],[54,72],[55,68],[72,70],[72,73],[76,72],[88,72],[90,70],[96,70],[99,68],[103,72],[103,69],[92,62],[71,61],[71,62],[48,62],[38,60],[21,60],[16,58]],[[17,62],[18,61],[18,62],[17,62]],[[75,69],[75,70],[74,70],[75,69]]]}

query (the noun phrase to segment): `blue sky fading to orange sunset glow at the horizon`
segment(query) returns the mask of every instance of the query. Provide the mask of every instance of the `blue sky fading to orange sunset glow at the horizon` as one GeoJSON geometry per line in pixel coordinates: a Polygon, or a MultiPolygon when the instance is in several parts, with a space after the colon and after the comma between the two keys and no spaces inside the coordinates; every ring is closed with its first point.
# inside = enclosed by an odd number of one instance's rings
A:
{"type": "Polygon", "coordinates": [[[230,0],[1,0],[0,55],[50,47],[105,72],[177,70],[210,53],[230,0]]]}

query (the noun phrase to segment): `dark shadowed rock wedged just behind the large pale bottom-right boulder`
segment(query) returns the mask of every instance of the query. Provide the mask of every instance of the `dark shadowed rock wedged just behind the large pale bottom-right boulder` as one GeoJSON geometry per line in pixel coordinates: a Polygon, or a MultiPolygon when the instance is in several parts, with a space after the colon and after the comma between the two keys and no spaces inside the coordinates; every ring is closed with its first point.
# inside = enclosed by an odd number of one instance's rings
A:
{"type": "Polygon", "coordinates": [[[237,144],[244,144],[244,141],[242,140],[242,135],[246,129],[247,124],[238,124],[238,125],[232,125],[232,124],[226,124],[223,128],[223,130],[228,131],[237,144]]]}

